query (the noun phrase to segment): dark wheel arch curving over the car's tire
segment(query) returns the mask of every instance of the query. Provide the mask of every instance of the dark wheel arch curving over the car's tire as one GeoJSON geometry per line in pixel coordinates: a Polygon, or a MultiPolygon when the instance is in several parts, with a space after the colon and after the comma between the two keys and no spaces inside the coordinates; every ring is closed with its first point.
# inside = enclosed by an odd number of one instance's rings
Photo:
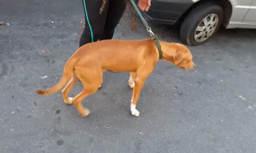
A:
{"type": "Polygon", "coordinates": [[[183,20],[185,19],[185,17],[191,12],[191,10],[193,10],[195,7],[203,4],[203,3],[207,3],[207,2],[213,2],[216,3],[218,5],[220,5],[223,8],[224,11],[224,18],[223,18],[223,22],[222,25],[224,27],[226,27],[229,23],[229,20],[231,18],[232,15],[232,11],[233,11],[233,7],[232,4],[230,3],[230,0],[191,0],[193,1],[195,4],[192,5],[189,9],[187,9],[182,15],[181,17],[178,19],[177,23],[182,23],[183,20]]]}

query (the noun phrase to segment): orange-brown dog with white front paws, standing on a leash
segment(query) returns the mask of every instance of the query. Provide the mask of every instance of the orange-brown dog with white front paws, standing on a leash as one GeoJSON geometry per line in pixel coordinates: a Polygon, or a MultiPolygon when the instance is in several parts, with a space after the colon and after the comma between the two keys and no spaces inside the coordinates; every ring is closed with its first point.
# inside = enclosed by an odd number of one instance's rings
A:
{"type": "MultiPolygon", "coordinates": [[[[180,43],[159,41],[162,48],[162,60],[173,63],[182,69],[195,66],[189,49],[180,43]]],[[[62,89],[66,104],[76,107],[81,116],[90,111],[84,108],[81,101],[96,92],[103,82],[103,71],[130,72],[129,86],[133,89],[131,113],[139,116],[136,103],[148,75],[154,70],[159,60],[159,52],[151,39],[144,40],[102,40],[81,46],[67,61],[62,78],[54,87],[37,90],[40,95],[50,95],[62,89]],[[137,78],[136,78],[137,75],[137,78]],[[83,90],[74,98],[68,96],[72,87],[80,80],[83,90]]]]}

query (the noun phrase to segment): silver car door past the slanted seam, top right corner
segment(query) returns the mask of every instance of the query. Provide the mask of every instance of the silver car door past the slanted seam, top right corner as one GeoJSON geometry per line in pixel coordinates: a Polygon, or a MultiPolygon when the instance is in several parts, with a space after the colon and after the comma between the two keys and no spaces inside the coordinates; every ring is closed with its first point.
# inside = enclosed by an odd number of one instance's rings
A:
{"type": "Polygon", "coordinates": [[[249,7],[249,11],[245,15],[243,23],[254,23],[256,24],[256,0],[253,0],[249,7]]]}

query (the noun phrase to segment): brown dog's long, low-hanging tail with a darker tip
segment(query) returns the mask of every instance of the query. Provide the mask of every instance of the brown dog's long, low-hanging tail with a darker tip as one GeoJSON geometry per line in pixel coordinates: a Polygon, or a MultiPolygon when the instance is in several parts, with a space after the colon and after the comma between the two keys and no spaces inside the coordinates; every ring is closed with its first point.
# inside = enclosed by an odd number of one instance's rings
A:
{"type": "Polygon", "coordinates": [[[74,57],[71,57],[67,61],[66,65],[63,69],[63,75],[62,75],[60,81],[55,86],[53,86],[52,88],[47,89],[47,90],[36,90],[35,92],[40,95],[50,95],[50,94],[53,94],[53,93],[59,91],[63,86],[65,86],[65,84],[72,77],[72,72],[74,71],[74,66],[76,65],[76,63],[77,63],[77,59],[74,57]]]}

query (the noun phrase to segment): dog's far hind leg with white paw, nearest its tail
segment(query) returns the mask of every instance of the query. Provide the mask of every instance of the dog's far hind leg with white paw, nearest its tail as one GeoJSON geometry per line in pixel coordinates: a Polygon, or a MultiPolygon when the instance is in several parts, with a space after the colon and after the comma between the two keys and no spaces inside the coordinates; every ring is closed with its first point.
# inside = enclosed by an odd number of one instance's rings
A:
{"type": "Polygon", "coordinates": [[[69,97],[69,93],[70,93],[71,89],[74,87],[74,85],[77,83],[77,81],[78,81],[78,78],[73,73],[72,78],[70,79],[69,83],[66,85],[65,88],[62,89],[61,93],[62,93],[62,97],[63,97],[65,104],[72,104],[73,98],[69,97]]]}

